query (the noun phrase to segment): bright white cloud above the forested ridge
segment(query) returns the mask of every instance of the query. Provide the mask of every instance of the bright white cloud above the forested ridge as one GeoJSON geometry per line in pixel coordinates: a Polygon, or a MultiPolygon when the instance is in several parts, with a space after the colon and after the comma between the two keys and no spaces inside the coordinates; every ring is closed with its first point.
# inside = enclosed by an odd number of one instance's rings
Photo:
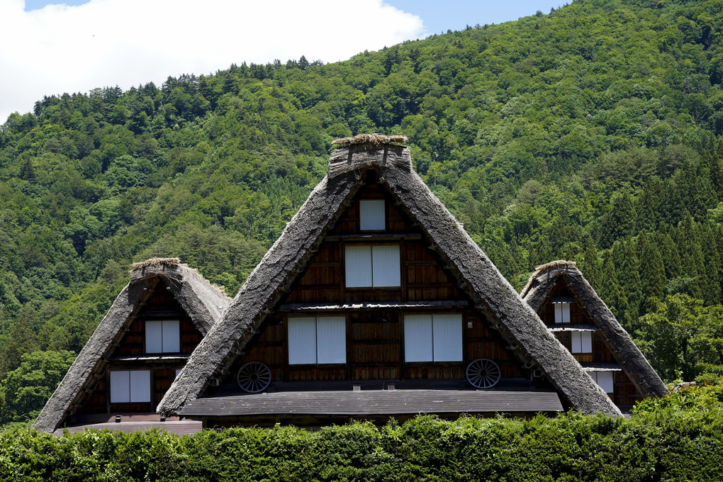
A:
{"type": "Polygon", "coordinates": [[[233,63],[348,59],[424,33],[382,0],[90,0],[25,12],[0,1],[0,124],[62,92],[161,83],[233,63]]]}

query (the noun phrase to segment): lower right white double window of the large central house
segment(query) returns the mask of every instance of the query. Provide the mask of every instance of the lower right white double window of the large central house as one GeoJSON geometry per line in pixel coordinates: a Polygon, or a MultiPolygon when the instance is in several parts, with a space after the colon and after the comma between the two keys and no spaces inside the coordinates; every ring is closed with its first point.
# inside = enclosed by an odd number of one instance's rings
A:
{"type": "Polygon", "coordinates": [[[404,317],[405,361],[462,361],[462,315],[404,317]]]}

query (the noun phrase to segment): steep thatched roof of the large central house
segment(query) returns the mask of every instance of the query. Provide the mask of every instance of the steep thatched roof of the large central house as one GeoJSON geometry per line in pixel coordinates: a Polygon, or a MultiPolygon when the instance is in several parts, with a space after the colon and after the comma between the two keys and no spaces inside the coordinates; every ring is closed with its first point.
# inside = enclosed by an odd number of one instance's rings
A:
{"type": "Polygon", "coordinates": [[[603,390],[547,331],[453,215],[411,169],[406,147],[350,144],[335,150],[329,175],[312,191],[281,237],[266,253],[224,314],[198,345],[158,406],[178,413],[202,394],[244,350],[265,317],[306,269],[367,176],[375,176],[421,226],[427,243],[447,264],[476,308],[497,320],[495,329],[528,366],[539,369],[563,398],[583,413],[620,414],[603,390]]]}

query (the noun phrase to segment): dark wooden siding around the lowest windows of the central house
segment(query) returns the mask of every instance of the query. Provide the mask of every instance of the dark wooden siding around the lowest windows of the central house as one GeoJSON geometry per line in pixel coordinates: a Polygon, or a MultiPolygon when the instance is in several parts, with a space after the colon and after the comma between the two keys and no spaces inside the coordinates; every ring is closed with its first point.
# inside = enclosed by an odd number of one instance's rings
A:
{"type": "MultiPolygon", "coordinates": [[[[526,377],[513,354],[489,329],[487,321],[471,309],[427,309],[427,311],[335,311],[304,313],[304,316],[346,317],[346,363],[333,365],[288,365],[286,319],[272,315],[261,327],[249,352],[236,361],[225,380],[235,384],[236,372],[249,361],[262,361],[278,382],[359,382],[368,380],[463,380],[466,366],[476,358],[490,358],[500,365],[502,378],[526,377]],[[453,312],[461,314],[463,361],[404,361],[404,314],[453,312]],[[471,327],[470,327],[471,324],[471,327]]],[[[231,387],[232,388],[232,387],[231,387]]],[[[281,390],[283,387],[276,387],[281,390]]]]}

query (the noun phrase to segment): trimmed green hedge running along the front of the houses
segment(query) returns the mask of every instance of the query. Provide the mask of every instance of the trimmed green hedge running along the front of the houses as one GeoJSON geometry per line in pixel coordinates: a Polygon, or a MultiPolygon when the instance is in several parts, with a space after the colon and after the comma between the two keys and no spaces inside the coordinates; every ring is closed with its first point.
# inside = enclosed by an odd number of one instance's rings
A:
{"type": "Polygon", "coordinates": [[[723,412],[630,420],[422,416],[401,425],[0,433],[2,481],[719,481],[723,412]]]}

